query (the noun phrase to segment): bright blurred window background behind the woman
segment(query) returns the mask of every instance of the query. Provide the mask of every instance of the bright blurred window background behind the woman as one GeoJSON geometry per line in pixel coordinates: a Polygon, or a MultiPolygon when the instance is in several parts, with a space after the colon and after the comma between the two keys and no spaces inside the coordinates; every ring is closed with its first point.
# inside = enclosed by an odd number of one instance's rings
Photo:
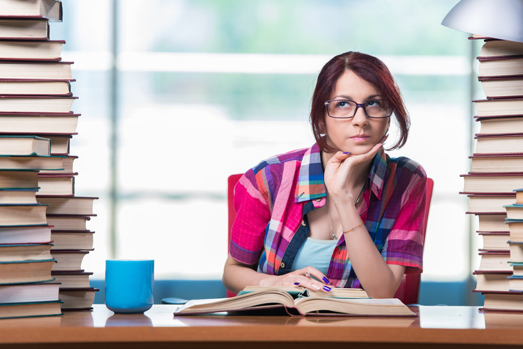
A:
{"type": "MultiPolygon", "coordinates": [[[[64,0],[51,38],[74,61],[77,196],[98,196],[82,267],[103,302],[105,260],[153,258],[162,297],[222,297],[227,176],[314,139],[315,80],[332,56],[378,56],[411,135],[391,156],[434,179],[420,304],[471,293],[480,243],[460,174],[476,132],[477,40],[441,26],[457,0],[64,0]]],[[[390,145],[395,139],[391,130],[390,145]]]]}

